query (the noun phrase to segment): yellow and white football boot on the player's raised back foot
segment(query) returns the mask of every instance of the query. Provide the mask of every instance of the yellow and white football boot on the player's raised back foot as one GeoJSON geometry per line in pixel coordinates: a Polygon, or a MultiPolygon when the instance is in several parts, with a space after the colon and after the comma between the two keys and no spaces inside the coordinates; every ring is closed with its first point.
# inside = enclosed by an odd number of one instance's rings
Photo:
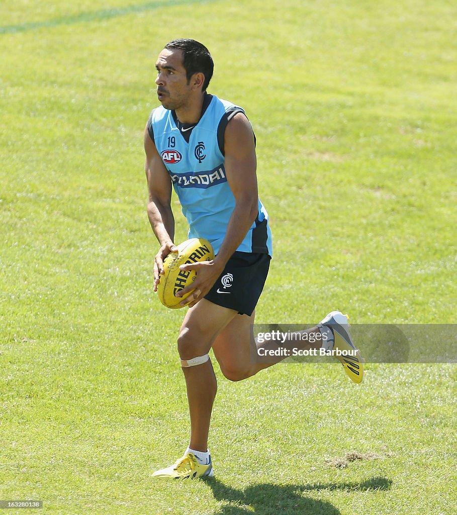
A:
{"type": "Polygon", "coordinates": [[[335,337],[332,356],[339,359],[346,374],[354,383],[361,383],[364,374],[363,358],[350,337],[348,320],[348,316],[343,315],[341,311],[332,311],[319,325],[326,325],[335,337]]]}

